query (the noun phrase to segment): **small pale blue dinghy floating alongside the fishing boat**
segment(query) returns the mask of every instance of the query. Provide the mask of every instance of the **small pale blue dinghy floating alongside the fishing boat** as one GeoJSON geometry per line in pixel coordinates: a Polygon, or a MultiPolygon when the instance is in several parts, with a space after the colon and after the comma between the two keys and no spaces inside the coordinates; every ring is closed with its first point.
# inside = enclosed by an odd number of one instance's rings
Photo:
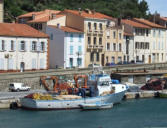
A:
{"type": "Polygon", "coordinates": [[[80,104],[83,110],[97,110],[97,109],[109,109],[113,107],[113,103],[95,103],[95,104],[80,104]]]}

